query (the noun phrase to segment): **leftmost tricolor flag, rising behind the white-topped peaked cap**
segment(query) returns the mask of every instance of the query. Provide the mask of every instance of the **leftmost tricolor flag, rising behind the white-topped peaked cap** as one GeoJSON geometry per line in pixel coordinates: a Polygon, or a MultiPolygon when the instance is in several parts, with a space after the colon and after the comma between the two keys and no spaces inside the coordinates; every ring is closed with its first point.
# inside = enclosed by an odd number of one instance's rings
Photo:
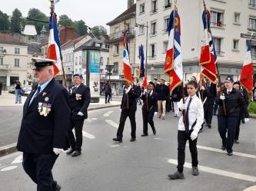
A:
{"type": "Polygon", "coordinates": [[[56,61],[53,65],[55,69],[55,75],[62,71],[62,52],[58,40],[57,17],[55,12],[53,12],[50,17],[47,58],[56,61]]]}

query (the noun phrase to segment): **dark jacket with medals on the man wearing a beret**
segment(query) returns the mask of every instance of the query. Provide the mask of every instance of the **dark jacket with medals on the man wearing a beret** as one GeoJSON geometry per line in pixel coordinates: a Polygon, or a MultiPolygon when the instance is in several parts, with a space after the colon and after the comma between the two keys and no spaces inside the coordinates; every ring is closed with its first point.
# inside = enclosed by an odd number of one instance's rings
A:
{"type": "Polygon", "coordinates": [[[91,101],[90,88],[85,86],[85,84],[80,84],[75,91],[72,91],[73,87],[74,86],[68,87],[71,119],[85,120],[88,117],[87,110],[91,101]],[[84,115],[78,116],[79,111],[84,115]]]}

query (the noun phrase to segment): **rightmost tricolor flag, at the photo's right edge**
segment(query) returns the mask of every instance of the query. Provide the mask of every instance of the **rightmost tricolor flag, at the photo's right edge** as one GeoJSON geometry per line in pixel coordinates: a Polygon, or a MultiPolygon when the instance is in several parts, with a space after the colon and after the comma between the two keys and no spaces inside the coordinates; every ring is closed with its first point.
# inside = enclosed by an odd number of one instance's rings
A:
{"type": "Polygon", "coordinates": [[[248,49],[245,54],[244,65],[241,69],[240,82],[248,91],[251,91],[254,83],[254,65],[251,59],[251,43],[248,44],[248,49]]]}

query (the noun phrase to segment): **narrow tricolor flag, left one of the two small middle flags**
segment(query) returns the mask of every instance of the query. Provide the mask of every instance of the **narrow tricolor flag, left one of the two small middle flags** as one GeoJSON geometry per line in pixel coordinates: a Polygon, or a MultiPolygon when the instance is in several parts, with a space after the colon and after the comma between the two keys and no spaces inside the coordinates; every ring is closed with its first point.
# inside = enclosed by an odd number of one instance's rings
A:
{"type": "Polygon", "coordinates": [[[124,77],[125,77],[125,81],[127,81],[128,84],[132,84],[131,64],[129,59],[129,42],[125,32],[123,37],[123,47],[124,47],[124,51],[123,51],[124,77]]]}

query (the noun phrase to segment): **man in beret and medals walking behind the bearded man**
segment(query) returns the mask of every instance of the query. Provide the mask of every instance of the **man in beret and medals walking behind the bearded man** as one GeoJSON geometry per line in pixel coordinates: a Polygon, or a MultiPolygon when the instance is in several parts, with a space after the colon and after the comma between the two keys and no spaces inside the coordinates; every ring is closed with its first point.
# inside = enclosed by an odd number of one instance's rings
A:
{"type": "Polygon", "coordinates": [[[87,110],[91,101],[90,88],[82,84],[81,74],[74,74],[74,85],[68,87],[69,106],[71,109],[70,127],[68,128],[68,140],[71,148],[67,154],[79,156],[81,154],[82,130],[84,120],[87,118],[87,110]],[[75,128],[75,137],[72,130],[75,128]],[[76,139],[75,139],[76,138],[76,139]]]}

